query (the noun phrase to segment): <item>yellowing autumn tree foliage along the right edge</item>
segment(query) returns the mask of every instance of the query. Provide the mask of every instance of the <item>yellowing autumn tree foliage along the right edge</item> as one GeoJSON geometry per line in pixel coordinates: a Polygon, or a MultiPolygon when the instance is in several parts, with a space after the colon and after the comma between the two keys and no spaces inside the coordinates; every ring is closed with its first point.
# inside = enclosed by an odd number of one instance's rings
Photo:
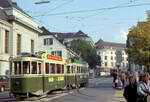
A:
{"type": "Polygon", "coordinates": [[[126,51],[131,61],[138,65],[150,66],[150,17],[146,22],[139,22],[130,29],[128,40],[130,45],[126,51]]]}

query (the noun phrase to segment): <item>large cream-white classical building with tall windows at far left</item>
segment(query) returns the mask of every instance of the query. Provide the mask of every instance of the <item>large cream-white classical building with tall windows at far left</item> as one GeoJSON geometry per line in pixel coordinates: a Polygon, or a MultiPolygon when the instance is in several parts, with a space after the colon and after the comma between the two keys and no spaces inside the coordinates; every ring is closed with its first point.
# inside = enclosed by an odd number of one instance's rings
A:
{"type": "Polygon", "coordinates": [[[11,0],[0,0],[0,75],[9,71],[9,57],[37,51],[38,24],[11,0]]]}

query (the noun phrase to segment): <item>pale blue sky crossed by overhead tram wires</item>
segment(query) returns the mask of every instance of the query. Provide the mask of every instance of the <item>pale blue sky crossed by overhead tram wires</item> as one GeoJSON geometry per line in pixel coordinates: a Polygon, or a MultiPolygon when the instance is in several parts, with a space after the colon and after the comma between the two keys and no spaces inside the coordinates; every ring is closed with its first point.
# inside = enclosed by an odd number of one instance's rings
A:
{"type": "Polygon", "coordinates": [[[126,43],[138,21],[147,20],[150,0],[13,0],[50,32],[83,31],[94,42],[126,43]]]}

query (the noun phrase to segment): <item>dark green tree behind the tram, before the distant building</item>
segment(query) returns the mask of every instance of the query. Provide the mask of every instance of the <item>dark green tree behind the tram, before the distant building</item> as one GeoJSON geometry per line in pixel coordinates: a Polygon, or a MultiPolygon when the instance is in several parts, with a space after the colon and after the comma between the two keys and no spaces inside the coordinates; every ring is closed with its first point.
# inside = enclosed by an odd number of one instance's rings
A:
{"type": "Polygon", "coordinates": [[[92,47],[89,42],[82,39],[73,40],[71,49],[87,61],[91,68],[100,65],[100,56],[97,55],[96,48],[92,47]]]}

